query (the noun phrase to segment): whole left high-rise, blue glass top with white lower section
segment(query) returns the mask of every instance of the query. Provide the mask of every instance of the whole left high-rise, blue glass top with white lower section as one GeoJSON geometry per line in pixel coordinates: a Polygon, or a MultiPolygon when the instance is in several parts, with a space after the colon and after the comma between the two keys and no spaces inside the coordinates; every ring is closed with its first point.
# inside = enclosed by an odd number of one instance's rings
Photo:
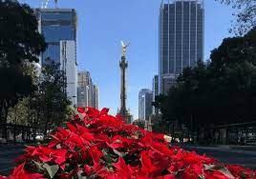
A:
{"type": "Polygon", "coordinates": [[[50,58],[60,64],[66,75],[67,97],[76,106],[76,13],[74,9],[35,9],[38,30],[44,35],[47,50],[40,56],[40,63],[50,58]]]}

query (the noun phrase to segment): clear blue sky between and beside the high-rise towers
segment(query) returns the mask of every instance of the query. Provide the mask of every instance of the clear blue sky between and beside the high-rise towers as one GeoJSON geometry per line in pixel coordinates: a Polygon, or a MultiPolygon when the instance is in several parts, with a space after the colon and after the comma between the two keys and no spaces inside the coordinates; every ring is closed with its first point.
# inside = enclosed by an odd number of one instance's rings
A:
{"type": "MultiPolygon", "coordinates": [[[[42,0],[20,0],[39,8],[42,0]]],[[[130,42],[127,52],[128,108],[138,118],[139,89],[151,89],[158,73],[160,0],[59,0],[59,8],[74,8],[78,15],[78,70],[89,70],[99,87],[99,107],[116,114],[119,106],[120,40],[130,42]]],[[[53,8],[50,0],[49,8],[53,8]]],[[[204,59],[231,36],[232,9],[205,0],[204,59]]]]}

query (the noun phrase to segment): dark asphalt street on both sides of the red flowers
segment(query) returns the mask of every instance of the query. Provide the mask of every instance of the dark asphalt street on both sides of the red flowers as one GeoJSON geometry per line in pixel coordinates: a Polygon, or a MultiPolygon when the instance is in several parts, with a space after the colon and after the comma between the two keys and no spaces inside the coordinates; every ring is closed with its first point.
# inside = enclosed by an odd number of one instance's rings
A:
{"type": "MultiPolygon", "coordinates": [[[[256,150],[225,149],[210,147],[182,147],[194,150],[200,154],[205,153],[227,164],[239,164],[249,169],[256,169],[256,150]]],[[[15,167],[15,158],[23,154],[23,146],[0,146],[0,175],[8,175],[15,167]]]]}

